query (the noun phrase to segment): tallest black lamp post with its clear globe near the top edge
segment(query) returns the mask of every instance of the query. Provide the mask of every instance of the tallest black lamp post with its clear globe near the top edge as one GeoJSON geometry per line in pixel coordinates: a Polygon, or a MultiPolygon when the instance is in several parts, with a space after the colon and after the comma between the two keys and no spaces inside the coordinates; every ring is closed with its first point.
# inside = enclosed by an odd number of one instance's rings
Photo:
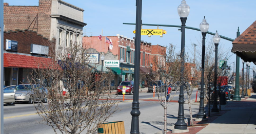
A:
{"type": "Polygon", "coordinates": [[[181,130],[187,130],[187,124],[184,121],[184,84],[183,84],[183,79],[184,79],[184,55],[185,55],[185,24],[187,20],[187,16],[189,14],[190,8],[186,4],[186,1],[183,0],[181,5],[178,6],[178,14],[181,19],[181,32],[182,32],[182,37],[181,37],[181,87],[180,87],[180,95],[179,95],[179,113],[178,113],[178,121],[174,124],[175,129],[181,129],[181,130]]]}

